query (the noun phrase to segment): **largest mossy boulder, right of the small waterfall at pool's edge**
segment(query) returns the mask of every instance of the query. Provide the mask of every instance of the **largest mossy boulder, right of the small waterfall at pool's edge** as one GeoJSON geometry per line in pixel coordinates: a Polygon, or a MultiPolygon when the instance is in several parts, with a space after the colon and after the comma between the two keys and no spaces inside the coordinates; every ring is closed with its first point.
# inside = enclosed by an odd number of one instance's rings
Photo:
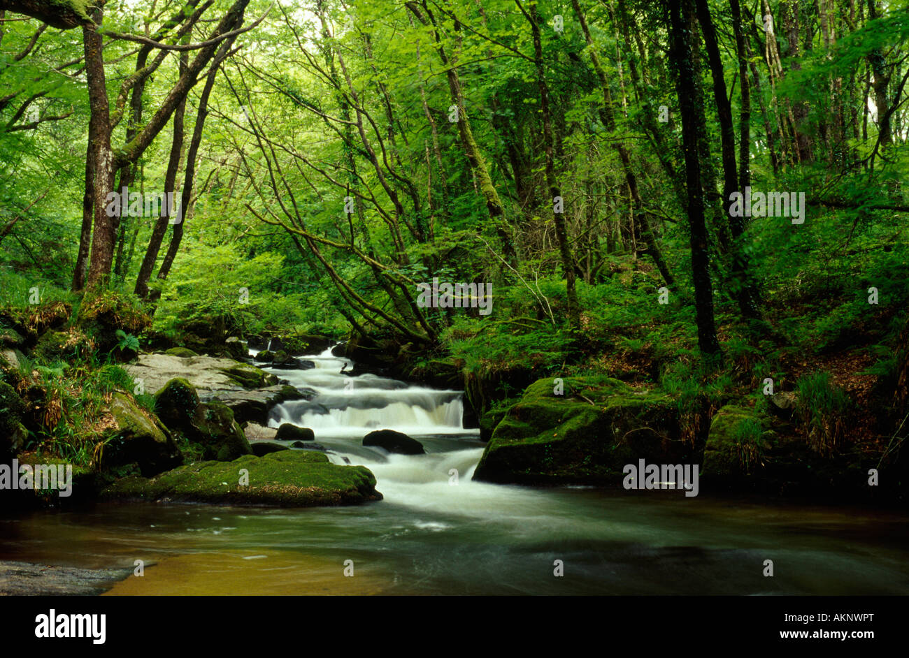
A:
{"type": "Polygon", "coordinates": [[[618,485],[625,464],[690,461],[679,412],[659,390],[613,378],[538,379],[494,429],[474,478],[515,484],[618,485]]]}

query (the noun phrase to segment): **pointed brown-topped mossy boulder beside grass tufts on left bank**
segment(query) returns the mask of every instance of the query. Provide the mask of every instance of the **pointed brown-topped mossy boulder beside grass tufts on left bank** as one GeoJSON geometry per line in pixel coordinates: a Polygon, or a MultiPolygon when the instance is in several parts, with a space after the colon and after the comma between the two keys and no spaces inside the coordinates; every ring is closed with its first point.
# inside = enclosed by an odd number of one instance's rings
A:
{"type": "Polygon", "coordinates": [[[154,476],[182,463],[183,456],[170,432],[133,398],[115,393],[108,409],[116,427],[105,432],[101,459],[105,468],[135,463],[144,476],[154,476]]]}

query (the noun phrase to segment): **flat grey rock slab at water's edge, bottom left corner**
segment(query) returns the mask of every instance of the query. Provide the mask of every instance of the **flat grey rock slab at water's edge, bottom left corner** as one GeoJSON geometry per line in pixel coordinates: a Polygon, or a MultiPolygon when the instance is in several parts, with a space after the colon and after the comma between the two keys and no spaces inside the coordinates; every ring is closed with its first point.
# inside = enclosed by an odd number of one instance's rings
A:
{"type": "Polygon", "coordinates": [[[128,569],[78,569],[0,560],[0,596],[89,596],[107,591],[128,569]]]}

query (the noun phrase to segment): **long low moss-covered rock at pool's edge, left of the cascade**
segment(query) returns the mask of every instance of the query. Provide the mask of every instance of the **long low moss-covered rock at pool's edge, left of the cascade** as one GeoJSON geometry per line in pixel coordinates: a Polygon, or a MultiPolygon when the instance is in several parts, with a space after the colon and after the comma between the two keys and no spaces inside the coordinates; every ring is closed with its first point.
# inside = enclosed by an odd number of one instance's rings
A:
{"type": "Polygon", "coordinates": [[[365,466],[337,466],[313,450],[281,450],[231,462],[181,466],[154,479],[127,477],[106,499],[185,501],[236,506],[335,506],[381,500],[365,466]]]}

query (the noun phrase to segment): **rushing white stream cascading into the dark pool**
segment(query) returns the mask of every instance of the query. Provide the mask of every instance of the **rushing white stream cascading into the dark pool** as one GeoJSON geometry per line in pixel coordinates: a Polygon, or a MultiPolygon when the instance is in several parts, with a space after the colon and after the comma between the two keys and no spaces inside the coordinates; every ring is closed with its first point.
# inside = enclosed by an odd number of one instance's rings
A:
{"type": "Polygon", "coordinates": [[[0,559],[145,562],[109,594],[907,594],[907,516],[867,508],[533,488],[471,480],[483,444],[461,395],[304,357],[273,371],[315,397],[270,425],[315,431],[335,463],[368,466],[381,502],[310,509],[106,504],[0,519],[0,559]],[[373,428],[426,455],[363,447],[373,428]],[[456,479],[455,479],[456,476],[456,479]],[[764,560],[774,577],[763,576],[764,560]],[[554,576],[554,561],[564,576],[554,576]],[[354,575],[344,575],[352,561],[354,575]]]}

